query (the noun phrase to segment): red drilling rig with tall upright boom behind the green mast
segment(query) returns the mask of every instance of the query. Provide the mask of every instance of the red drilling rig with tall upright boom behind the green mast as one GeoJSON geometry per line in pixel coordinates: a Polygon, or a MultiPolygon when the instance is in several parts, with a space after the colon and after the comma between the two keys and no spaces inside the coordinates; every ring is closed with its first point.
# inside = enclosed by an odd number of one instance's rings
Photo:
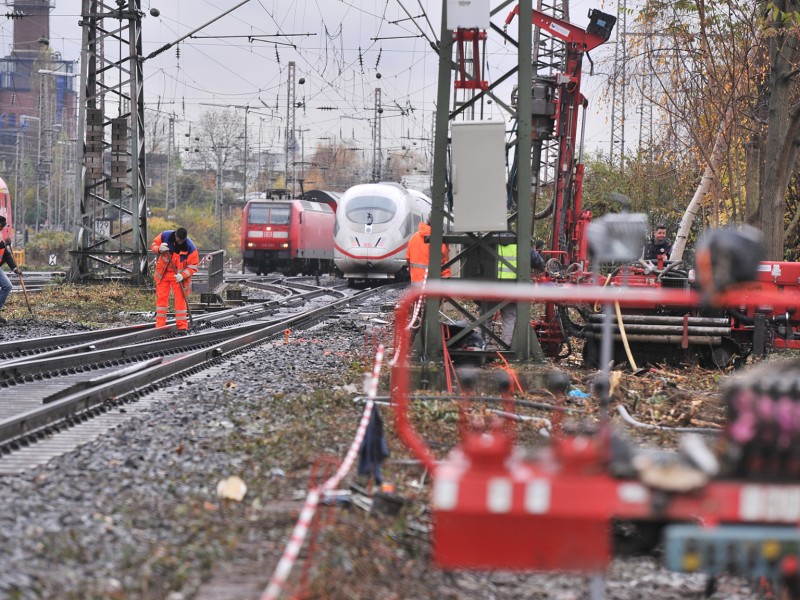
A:
{"type": "MultiPolygon", "coordinates": [[[[518,15],[515,8],[506,25],[518,15]]],[[[561,39],[566,47],[564,72],[536,77],[532,82],[533,170],[538,172],[541,147],[546,140],[557,140],[558,159],[552,203],[537,217],[550,216],[552,236],[547,269],[540,282],[575,283],[618,287],[664,287],[690,289],[695,285],[694,270],[683,261],[660,259],[617,264],[604,271],[590,268],[587,227],[592,212],[582,207],[584,165],[581,163],[583,139],[578,139],[578,116],[587,106],[581,93],[583,56],[607,41],[616,19],[598,10],[589,13],[590,24],[583,30],[571,23],[532,11],[532,23],[561,39]]],[[[585,123],[585,119],[583,121],[585,123]]],[[[610,231],[609,234],[613,234],[610,231]]],[[[794,291],[800,285],[800,263],[762,262],[753,289],[775,292],[794,291]]],[[[640,306],[621,311],[612,326],[615,335],[614,358],[626,360],[622,337],[630,353],[640,362],[649,360],[699,360],[704,366],[726,367],[741,362],[750,354],[763,355],[772,349],[800,349],[800,313],[796,306],[778,311],[774,305],[724,307],[662,305],[640,306]]],[[[595,303],[545,305],[544,314],[532,323],[545,353],[558,356],[571,340],[584,338],[584,358],[597,363],[602,315],[595,303]]]]}

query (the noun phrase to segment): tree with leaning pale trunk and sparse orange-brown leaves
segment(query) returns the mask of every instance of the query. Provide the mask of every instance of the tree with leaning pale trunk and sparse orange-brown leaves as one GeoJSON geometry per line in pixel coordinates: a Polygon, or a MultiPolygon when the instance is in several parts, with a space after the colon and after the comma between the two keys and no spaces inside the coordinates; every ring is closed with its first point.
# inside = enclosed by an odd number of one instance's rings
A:
{"type": "Polygon", "coordinates": [[[714,224],[745,213],[737,182],[745,180],[744,140],[758,128],[749,102],[760,80],[757,20],[756,7],[744,0],[650,0],[637,19],[637,85],[662,115],[662,141],[671,142],[662,143],[661,159],[702,171],[673,259],[682,257],[703,205],[710,205],[714,224]]]}

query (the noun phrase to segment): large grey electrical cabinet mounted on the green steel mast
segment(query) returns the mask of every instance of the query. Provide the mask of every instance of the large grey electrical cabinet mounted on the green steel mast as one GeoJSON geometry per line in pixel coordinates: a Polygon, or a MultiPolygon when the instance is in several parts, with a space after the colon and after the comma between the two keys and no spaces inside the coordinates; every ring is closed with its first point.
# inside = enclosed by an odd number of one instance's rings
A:
{"type": "Polygon", "coordinates": [[[453,230],[507,231],[505,125],[451,123],[453,230]]]}

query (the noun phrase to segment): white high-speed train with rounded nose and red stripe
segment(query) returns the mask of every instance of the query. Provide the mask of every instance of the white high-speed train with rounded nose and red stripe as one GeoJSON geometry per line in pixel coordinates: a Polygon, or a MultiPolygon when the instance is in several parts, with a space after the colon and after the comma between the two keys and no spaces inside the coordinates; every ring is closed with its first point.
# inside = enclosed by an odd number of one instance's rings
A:
{"type": "Polygon", "coordinates": [[[408,277],[408,240],[431,212],[431,199],[399,183],[365,183],[342,194],[333,261],[353,281],[408,277]]]}

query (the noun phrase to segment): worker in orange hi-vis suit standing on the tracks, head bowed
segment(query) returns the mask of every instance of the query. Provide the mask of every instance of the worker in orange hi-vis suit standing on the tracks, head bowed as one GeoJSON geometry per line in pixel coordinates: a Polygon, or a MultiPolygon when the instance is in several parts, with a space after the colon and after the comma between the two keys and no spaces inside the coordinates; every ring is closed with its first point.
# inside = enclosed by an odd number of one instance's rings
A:
{"type": "Polygon", "coordinates": [[[178,227],[175,231],[168,229],[159,233],[150,249],[158,253],[155,268],[156,327],[167,325],[169,293],[172,290],[178,335],[186,335],[189,333],[186,297],[192,287],[192,276],[200,264],[197,247],[189,239],[186,229],[178,227]]]}

